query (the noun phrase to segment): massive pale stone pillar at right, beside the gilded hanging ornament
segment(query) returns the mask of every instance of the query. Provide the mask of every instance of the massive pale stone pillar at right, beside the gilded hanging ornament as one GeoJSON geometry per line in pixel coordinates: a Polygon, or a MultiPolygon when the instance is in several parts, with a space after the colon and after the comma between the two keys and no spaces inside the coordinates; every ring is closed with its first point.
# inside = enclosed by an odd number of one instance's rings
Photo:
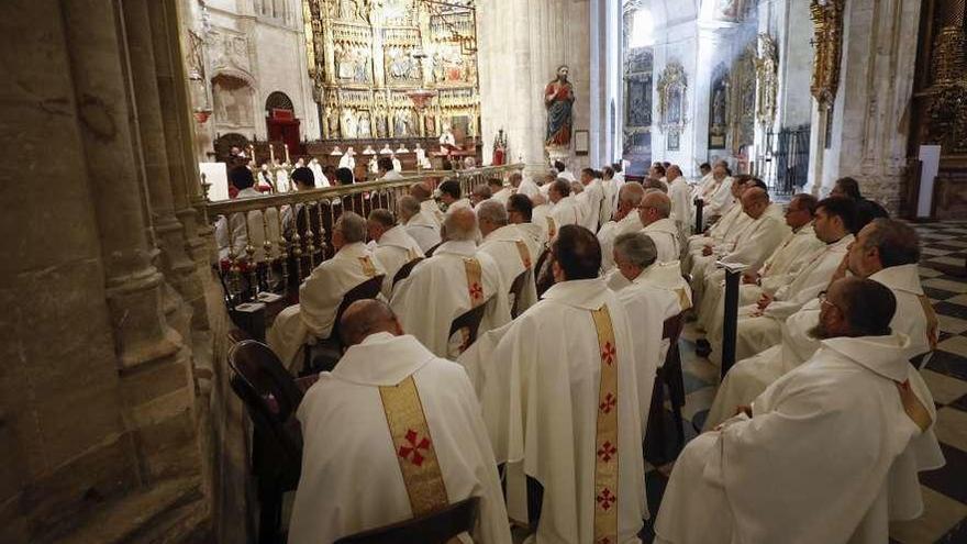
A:
{"type": "Polygon", "coordinates": [[[916,56],[910,44],[920,27],[920,2],[849,0],[843,16],[840,88],[829,149],[818,134],[825,126],[825,112],[813,100],[811,189],[826,196],[837,178],[852,176],[864,196],[896,212],[907,164],[904,113],[913,92],[916,56]]]}

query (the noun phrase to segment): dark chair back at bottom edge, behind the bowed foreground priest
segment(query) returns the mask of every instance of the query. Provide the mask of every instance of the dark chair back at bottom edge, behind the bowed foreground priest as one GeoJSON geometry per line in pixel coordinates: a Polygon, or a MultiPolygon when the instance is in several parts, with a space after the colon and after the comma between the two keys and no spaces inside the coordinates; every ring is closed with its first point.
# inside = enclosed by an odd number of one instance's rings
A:
{"type": "Polygon", "coordinates": [[[470,497],[426,515],[344,536],[335,544],[444,544],[473,532],[479,511],[480,498],[470,497]]]}

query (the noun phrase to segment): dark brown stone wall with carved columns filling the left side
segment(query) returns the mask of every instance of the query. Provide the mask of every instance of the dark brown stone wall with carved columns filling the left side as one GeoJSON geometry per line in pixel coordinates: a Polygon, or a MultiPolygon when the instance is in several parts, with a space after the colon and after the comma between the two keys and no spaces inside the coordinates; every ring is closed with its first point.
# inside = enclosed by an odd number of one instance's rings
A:
{"type": "Polygon", "coordinates": [[[207,532],[178,27],[175,0],[4,4],[0,144],[23,174],[0,219],[4,543],[207,532]]]}

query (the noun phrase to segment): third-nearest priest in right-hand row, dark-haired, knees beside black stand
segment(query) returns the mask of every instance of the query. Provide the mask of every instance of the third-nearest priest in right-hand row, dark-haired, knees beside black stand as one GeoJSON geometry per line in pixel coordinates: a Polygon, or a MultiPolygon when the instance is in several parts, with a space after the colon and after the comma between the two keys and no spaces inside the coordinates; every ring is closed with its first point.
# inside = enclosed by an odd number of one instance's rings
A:
{"type": "Polygon", "coordinates": [[[782,322],[798,312],[826,288],[833,273],[843,263],[856,220],[856,206],[843,197],[832,197],[816,204],[813,225],[816,237],[826,246],[813,254],[799,275],[775,296],[763,295],[751,306],[738,309],[735,360],[764,352],[782,340],[782,322]]]}

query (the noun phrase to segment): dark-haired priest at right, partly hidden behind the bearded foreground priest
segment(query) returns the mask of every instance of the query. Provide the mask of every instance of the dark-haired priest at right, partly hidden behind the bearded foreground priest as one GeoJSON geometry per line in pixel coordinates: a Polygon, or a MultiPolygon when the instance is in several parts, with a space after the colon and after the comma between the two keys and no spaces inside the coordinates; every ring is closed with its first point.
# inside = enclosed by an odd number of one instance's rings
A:
{"type": "MultiPolygon", "coordinates": [[[[890,327],[910,338],[907,358],[936,347],[937,319],[920,285],[920,243],[908,224],[876,220],[851,244],[845,258],[851,274],[886,286],[897,300],[890,327]]],[[[705,428],[729,418],[738,404],[747,404],[773,381],[807,360],[819,348],[810,331],[819,322],[822,302],[808,301],[781,327],[781,340],[754,357],[740,359],[722,380],[705,428]]]]}

